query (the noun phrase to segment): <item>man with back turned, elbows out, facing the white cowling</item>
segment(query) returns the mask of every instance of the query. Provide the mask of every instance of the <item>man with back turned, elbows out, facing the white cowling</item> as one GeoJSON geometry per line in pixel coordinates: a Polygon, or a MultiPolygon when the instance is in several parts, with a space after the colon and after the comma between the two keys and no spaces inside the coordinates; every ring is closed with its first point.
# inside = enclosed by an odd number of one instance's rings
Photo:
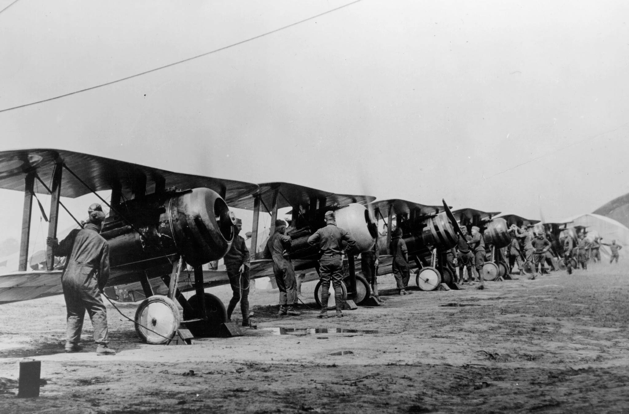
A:
{"type": "Polygon", "coordinates": [[[326,211],[326,226],[308,237],[308,244],[319,247],[319,277],[321,279],[321,313],[318,318],[328,317],[328,299],[330,298],[330,282],[334,288],[334,300],[337,306],[337,318],[343,317],[343,247],[349,254],[356,245],[356,240],[340,227],[337,227],[334,211],[326,211]]]}

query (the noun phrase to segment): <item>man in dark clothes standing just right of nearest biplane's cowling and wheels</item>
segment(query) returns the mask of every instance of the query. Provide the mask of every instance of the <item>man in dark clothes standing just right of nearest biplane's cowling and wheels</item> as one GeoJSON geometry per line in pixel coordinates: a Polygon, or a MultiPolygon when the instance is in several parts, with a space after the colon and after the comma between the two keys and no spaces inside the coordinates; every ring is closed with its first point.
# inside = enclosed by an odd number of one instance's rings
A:
{"type": "Polygon", "coordinates": [[[249,319],[249,249],[245,245],[245,239],[239,234],[240,230],[242,230],[242,220],[237,218],[234,220],[234,240],[231,242],[230,250],[223,257],[233,292],[230,304],[227,306],[227,319],[231,320],[231,313],[240,301],[242,326],[255,328],[249,319]]]}

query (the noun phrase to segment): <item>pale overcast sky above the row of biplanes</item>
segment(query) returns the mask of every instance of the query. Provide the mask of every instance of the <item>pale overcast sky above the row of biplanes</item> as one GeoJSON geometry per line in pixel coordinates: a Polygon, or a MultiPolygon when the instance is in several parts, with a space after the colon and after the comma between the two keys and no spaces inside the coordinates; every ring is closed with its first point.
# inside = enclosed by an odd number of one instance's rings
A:
{"type": "MultiPolygon", "coordinates": [[[[19,0],[0,13],[0,110],[347,3],[19,0]]],[[[628,9],[362,0],[0,112],[0,150],[547,220],[591,212],[629,192],[628,9]]],[[[22,195],[0,196],[18,237],[22,195]]]]}

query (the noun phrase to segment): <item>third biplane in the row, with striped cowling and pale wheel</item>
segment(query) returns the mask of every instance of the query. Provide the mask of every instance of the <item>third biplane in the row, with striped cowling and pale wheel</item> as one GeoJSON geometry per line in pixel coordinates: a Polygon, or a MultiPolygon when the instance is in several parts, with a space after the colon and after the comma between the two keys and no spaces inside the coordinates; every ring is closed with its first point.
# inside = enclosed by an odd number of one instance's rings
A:
{"type": "Polygon", "coordinates": [[[426,206],[403,199],[388,199],[370,204],[374,215],[387,225],[386,236],[379,239],[380,264],[377,274],[391,273],[392,257],[389,252],[391,232],[401,228],[408,248],[408,257],[420,270],[415,281],[420,289],[431,291],[442,283],[452,284],[454,274],[448,269],[445,255],[457,243],[461,233],[448,205],[426,206]],[[386,214],[386,218],[385,215],[386,214]]]}

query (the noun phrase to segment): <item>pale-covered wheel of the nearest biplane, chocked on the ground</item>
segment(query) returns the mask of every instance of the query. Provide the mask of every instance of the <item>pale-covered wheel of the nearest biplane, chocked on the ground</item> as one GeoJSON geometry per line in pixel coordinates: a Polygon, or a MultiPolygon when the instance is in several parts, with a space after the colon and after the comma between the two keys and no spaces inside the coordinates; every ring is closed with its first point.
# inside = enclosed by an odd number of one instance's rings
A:
{"type": "Polygon", "coordinates": [[[150,296],[135,311],[135,332],[147,344],[165,344],[179,327],[179,308],[166,296],[150,296]]]}

